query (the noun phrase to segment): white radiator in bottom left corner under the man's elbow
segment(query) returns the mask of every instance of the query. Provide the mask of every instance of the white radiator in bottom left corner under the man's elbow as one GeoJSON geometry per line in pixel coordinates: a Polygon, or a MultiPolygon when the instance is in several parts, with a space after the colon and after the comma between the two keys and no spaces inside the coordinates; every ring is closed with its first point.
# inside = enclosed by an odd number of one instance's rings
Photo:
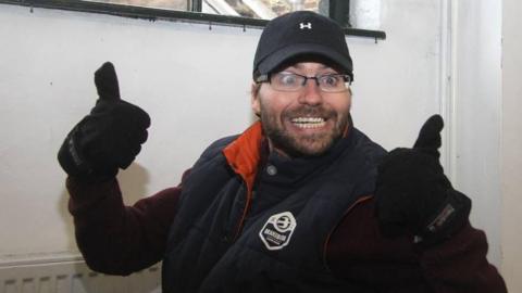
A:
{"type": "Polygon", "coordinates": [[[0,293],[159,293],[159,265],[114,277],[97,273],[82,259],[0,264],[0,293]]]}

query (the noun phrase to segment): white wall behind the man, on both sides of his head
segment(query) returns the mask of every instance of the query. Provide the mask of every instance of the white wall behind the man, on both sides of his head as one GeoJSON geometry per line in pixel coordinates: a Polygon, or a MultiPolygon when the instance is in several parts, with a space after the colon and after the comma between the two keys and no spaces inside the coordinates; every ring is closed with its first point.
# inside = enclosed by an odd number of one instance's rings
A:
{"type": "MultiPolygon", "coordinates": [[[[387,39],[347,38],[356,126],[387,149],[411,145],[422,123],[443,111],[444,3],[382,0],[387,39]]],[[[152,117],[149,141],[120,174],[128,203],[176,184],[209,142],[252,120],[248,90],[259,29],[4,4],[0,23],[0,263],[77,253],[55,153],[92,106],[92,73],[102,62],[115,64],[122,95],[152,117]]],[[[470,196],[475,206],[486,204],[470,196]]],[[[477,226],[493,234],[498,252],[499,209],[473,213],[487,214],[477,226]]],[[[497,254],[493,262],[499,264],[497,254]]]]}

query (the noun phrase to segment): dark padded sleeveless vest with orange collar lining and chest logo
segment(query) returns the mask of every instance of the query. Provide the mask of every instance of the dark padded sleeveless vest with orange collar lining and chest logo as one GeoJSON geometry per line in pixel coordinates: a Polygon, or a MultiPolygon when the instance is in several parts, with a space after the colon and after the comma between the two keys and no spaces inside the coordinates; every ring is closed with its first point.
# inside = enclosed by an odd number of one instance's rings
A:
{"type": "Polygon", "coordinates": [[[278,200],[250,215],[261,132],[258,123],[214,142],[182,182],[163,292],[363,292],[331,275],[325,247],[347,209],[373,193],[385,151],[351,128],[322,156],[271,155],[256,198],[278,200]]]}

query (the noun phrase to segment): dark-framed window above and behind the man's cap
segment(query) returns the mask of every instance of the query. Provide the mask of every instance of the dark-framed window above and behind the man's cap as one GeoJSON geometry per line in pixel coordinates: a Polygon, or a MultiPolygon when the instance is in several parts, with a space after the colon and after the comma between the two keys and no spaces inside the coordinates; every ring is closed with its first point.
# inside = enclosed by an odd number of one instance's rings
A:
{"type": "MultiPolygon", "coordinates": [[[[327,15],[345,27],[347,35],[385,39],[384,31],[357,27],[361,24],[353,12],[378,7],[380,0],[0,0],[0,3],[41,7],[150,20],[185,20],[212,24],[262,27],[277,15],[310,10],[327,15]],[[372,4],[377,3],[377,4],[372,4]],[[363,10],[360,9],[361,5],[363,10]],[[357,22],[351,22],[350,18],[357,22]],[[352,27],[355,24],[356,27],[352,27]]],[[[378,14],[376,11],[375,14],[378,14]]],[[[377,15],[378,16],[378,15],[377,15]]]]}

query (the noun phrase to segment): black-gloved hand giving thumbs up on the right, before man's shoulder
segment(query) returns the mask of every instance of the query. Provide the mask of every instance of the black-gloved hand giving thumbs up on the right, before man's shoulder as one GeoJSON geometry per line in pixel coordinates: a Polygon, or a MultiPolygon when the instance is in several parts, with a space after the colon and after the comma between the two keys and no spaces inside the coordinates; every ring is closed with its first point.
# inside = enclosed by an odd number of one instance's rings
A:
{"type": "Polygon", "coordinates": [[[439,115],[430,117],[412,149],[395,149],[380,164],[376,216],[385,237],[414,235],[431,245],[468,221],[471,201],[451,187],[438,161],[443,127],[439,115]]]}

